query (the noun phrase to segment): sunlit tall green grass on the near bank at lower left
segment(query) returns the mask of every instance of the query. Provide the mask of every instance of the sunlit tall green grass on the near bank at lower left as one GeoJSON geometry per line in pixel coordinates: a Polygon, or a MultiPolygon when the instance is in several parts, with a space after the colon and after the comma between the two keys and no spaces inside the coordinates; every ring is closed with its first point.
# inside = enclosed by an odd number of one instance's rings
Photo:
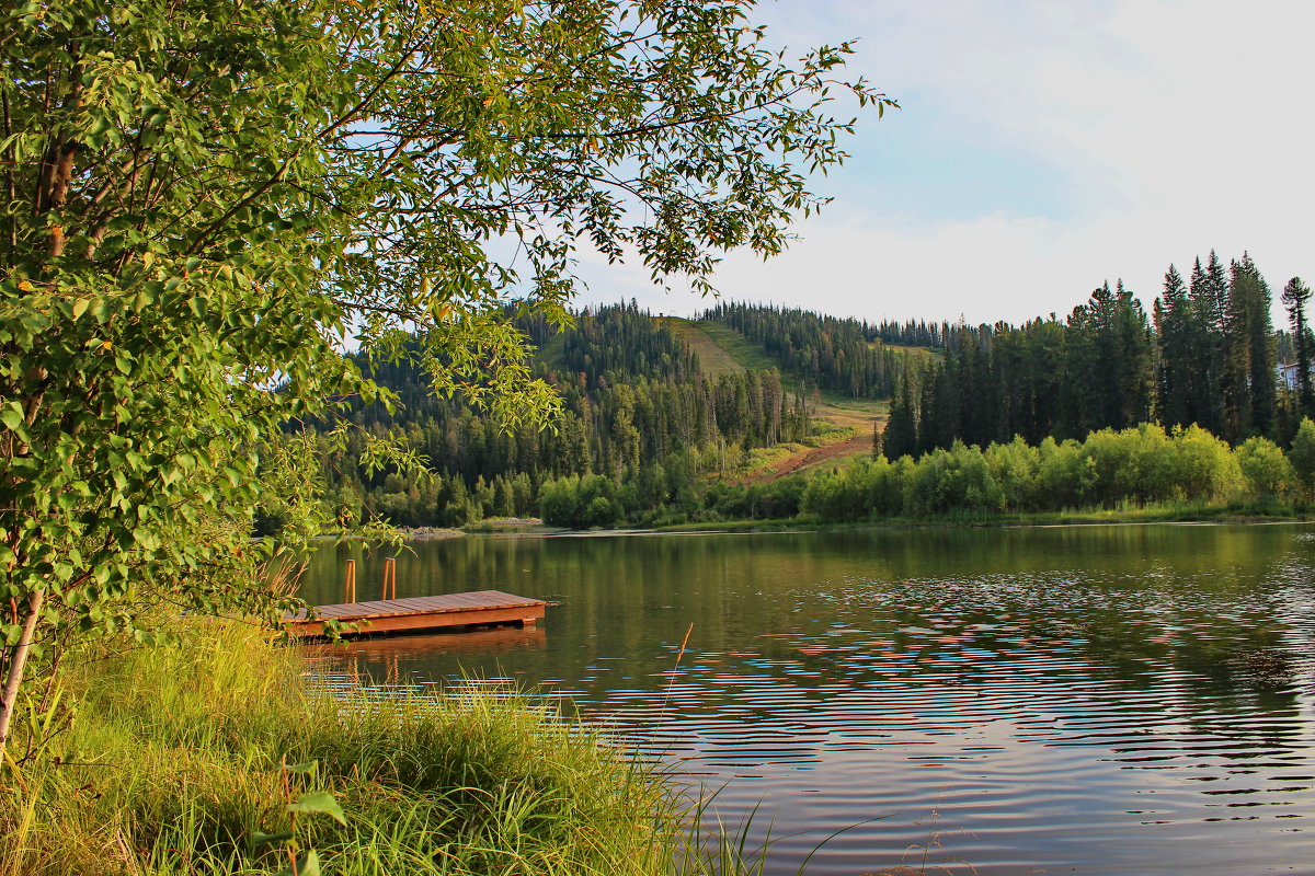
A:
{"type": "Polygon", "coordinates": [[[79,655],[51,712],[72,709],[67,729],[39,750],[29,722],[11,746],[37,756],[3,774],[0,873],[255,876],[309,850],[346,876],[743,869],[734,850],[689,850],[692,813],[663,776],[551,712],[487,695],[330,700],[304,671],[218,624],[79,655]]]}

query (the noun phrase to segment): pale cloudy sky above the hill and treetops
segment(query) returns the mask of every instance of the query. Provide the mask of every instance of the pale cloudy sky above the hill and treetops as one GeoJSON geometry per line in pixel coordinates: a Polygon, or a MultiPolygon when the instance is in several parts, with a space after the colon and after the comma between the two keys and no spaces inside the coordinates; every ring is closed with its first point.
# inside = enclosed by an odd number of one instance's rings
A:
{"type": "MultiPolygon", "coordinates": [[[[860,117],[789,252],[725,259],[727,298],[1016,323],[1122,278],[1149,310],[1170,263],[1186,276],[1214,248],[1251,253],[1283,324],[1283,284],[1315,280],[1315,4],[778,0],[756,17],[790,47],[857,38],[851,72],[901,109],[860,117]]],[[[636,265],[580,273],[580,303],[711,303],[636,265]]]]}

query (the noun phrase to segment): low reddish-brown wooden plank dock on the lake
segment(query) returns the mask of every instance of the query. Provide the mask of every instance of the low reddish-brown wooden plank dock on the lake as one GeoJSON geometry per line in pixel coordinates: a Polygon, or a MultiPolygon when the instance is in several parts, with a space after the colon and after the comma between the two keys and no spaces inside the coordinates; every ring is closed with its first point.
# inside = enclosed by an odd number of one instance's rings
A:
{"type": "Polygon", "coordinates": [[[514,624],[531,626],[543,617],[544,602],[504,594],[501,590],[476,590],[468,594],[417,596],[414,599],[380,599],[372,603],[316,605],[317,619],[305,612],[288,615],[284,625],[293,636],[323,636],[325,620],[355,624],[347,636],[447,629],[452,626],[490,626],[514,624]]]}

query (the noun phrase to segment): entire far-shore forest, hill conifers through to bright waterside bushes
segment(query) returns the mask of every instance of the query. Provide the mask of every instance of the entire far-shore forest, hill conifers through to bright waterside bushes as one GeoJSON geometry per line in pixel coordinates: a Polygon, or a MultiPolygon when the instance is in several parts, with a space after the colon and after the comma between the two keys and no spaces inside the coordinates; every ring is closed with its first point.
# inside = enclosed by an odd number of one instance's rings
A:
{"type": "MultiPolygon", "coordinates": [[[[1308,449],[1294,441],[1315,412],[1308,297],[1299,278],[1286,285],[1289,326],[1276,331],[1255,263],[1243,255],[1226,267],[1210,252],[1186,281],[1170,265],[1149,310],[1122,282],[1103,284],[1066,318],[1022,326],[867,323],[727,301],[693,324],[732,330],[773,364],[730,373],[706,372],[669,320],[634,302],[585,309],[562,328],[517,317],[538,348],[534,374],[563,403],[552,427],[506,427],[434,394],[416,366],[364,351],[359,361],[397,405],[352,405],[354,428],[323,454],[323,477],[347,525],[1304,502],[1308,449]],[[1295,365],[1291,386],[1279,381],[1279,361],[1295,365]],[[756,470],[759,449],[823,440],[822,393],[889,399],[872,452],[788,477],[756,470]],[[427,470],[350,464],[370,440],[394,443],[427,470]]],[[[277,525],[276,515],[262,521],[277,525]]]]}

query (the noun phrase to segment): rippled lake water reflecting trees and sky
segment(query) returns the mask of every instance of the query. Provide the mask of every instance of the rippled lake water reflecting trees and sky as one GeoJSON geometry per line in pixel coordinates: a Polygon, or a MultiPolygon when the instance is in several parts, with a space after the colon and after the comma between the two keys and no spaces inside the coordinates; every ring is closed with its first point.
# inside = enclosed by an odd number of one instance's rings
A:
{"type": "MultiPolygon", "coordinates": [[[[376,598],[359,545],[302,595],[341,602],[350,557],[376,598]]],[[[325,659],[569,697],[731,821],[761,804],[772,873],[877,817],[809,873],[919,864],[928,837],[952,873],[1315,873],[1312,527],[481,536],[397,561],[398,596],[485,588],[547,619],[325,659]]]]}

